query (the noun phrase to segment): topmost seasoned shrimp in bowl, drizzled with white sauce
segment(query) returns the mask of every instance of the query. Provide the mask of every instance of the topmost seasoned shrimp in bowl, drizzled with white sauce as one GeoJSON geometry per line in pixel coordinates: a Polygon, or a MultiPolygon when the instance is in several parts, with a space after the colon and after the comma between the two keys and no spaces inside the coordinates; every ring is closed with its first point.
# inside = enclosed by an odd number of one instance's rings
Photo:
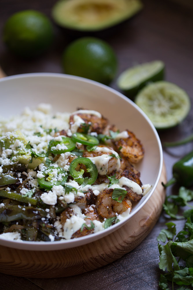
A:
{"type": "MultiPolygon", "coordinates": [[[[95,115],[93,111],[90,111],[89,113],[89,110],[80,110],[80,113],[77,111],[76,115],[78,115],[84,121],[84,124],[90,125],[89,132],[96,132],[97,134],[100,134],[108,124],[108,120],[106,118],[101,116],[99,113],[95,115]]],[[[70,116],[71,126],[74,124],[74,116],[75,116],[74,113],[70,116]]],[[[80,124],[80,126],[77,129],[77,132],[84,133],[84,131],[85,126],[80,124]]]]}

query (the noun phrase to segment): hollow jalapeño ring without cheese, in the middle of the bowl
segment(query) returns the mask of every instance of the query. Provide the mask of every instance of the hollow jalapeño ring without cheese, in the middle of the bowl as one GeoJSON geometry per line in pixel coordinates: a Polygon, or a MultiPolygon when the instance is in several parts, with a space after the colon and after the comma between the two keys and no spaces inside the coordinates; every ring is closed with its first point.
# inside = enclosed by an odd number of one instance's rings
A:
{"type": "Polygon", "coordinates": [[[93,162],[87,157],[78,157],[71,162],[70,168],[69,168],[70,174],[73,177],[73,179],[76,180],[80,184],[82,184],[84,181],[84,177],[83,177],[84,169],[80,169],[80,171],[76,171],[76,167],[78,166],[78,164],[83,164],[86,166],[87,172],[90,174],[90,177],[88,179],[88,184],[93,184],[98,176],[98,170],[95,164],[93,164],[93,162]]]}

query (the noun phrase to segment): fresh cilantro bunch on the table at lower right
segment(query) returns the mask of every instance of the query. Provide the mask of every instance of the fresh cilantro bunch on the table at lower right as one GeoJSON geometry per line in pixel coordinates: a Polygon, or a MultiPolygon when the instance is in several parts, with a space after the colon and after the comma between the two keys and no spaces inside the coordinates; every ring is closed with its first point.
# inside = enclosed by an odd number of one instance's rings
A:
{"type": "MultiPolygon", "coordinates": [[[[174,285],[179,285],[177,290],[191,290],[193,287],[193,207],[188,203],[193,200],[193,191],[180,187],[179,195],[170,195],[166,198],[164,209],[171,218],[185,218],[183,230],[176,235],[176,225],[166,223],[167,229],[162,229],[157,240],[168,242],[158,244],[159,268],[165,273],[161,274],[159,287],[163,290],[172,290],[174,285]],[[183,215],[177,215],[179,207],[189,206],[183,215]]],[[[176,289],[176,288],[175,288],[176,289]]]]}

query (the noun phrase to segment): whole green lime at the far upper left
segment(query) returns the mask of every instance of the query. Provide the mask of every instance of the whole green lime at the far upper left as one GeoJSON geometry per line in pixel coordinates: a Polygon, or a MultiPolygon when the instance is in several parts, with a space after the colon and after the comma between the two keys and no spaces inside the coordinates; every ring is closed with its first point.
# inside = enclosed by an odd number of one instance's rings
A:
{"type": "Polygon", "coordinates": [[[44,52],[53,40],[49,19],[35,10],[13,14],[3,28],[3,41],[16,55],[34,57],[44,52]]]}

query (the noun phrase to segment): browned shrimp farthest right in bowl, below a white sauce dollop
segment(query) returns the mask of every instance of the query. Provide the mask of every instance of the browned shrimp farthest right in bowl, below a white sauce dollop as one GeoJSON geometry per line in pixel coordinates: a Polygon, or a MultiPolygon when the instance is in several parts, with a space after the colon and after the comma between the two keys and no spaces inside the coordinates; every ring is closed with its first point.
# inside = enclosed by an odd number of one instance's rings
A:
{"type": "Polygon", "coordinates": [[[126,130],[128,137],[125,139],[119,139],[114,142],[117,150],[120,147],[120,155],[123,157],[128,157],[128,160],[133,163],[139,162],[144,157],[144,148],[139,139],[135,135],[126,130]]]}

